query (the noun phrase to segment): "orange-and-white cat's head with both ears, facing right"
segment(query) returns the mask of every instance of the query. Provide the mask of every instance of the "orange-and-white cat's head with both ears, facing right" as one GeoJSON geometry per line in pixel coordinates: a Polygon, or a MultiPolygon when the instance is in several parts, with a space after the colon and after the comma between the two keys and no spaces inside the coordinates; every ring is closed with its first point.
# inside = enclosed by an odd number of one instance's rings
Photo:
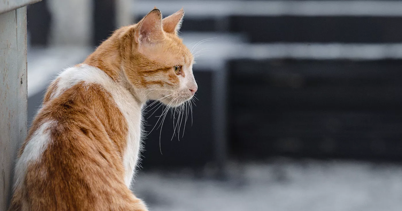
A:
{"type": "Polygon", "coordinates": [[[197,91],[194,58],[178,37],[183,9],[162,19],[158,9],[131,27],[124,68],[127,78],[146,100],[159,100],[176,107],[197,91]]]}

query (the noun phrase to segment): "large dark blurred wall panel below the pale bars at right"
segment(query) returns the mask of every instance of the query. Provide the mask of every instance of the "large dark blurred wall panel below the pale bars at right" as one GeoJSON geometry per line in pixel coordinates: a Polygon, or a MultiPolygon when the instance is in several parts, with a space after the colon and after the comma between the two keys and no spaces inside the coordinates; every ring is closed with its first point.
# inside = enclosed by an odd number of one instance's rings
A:
{"type": "Polygon", "coordinates": [[[234,60],[234,154],[402,158],[402,61],[234,60]]]}

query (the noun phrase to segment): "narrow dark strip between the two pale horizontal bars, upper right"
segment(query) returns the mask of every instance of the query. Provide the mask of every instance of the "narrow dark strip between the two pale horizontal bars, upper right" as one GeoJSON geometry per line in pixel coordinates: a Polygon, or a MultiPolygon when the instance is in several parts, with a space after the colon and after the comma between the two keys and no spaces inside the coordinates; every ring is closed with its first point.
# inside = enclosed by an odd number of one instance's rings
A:
{"type": "Polygon", "coordinates": [[[230,31],[251,42],[390,43],[402,41],[402,17],[232,16],[230,31]]]}

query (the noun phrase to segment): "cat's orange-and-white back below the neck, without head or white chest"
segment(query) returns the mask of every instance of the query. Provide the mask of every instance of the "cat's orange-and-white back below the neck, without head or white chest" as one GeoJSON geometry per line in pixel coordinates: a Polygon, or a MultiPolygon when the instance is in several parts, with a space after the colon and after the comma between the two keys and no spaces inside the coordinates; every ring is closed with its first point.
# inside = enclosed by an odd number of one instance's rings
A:
{"type": "Polygon", "coordinates": [[[52,82],[20,149],[10,210],[127,206],[119,143],[127,123],[110,91],[116,89],[105,72],[86,65],[52,82]]]}

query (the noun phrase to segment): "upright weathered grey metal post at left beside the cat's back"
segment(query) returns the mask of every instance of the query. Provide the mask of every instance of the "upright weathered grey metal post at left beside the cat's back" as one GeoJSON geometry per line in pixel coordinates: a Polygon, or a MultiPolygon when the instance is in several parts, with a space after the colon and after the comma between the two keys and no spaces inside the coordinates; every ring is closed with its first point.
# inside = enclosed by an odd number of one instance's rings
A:
{"type": "Polygon", "coordinates": [[[0,211],[7,210],[16,152],[26,134],[27,8],[23,7],[0,14],[0,211]]]}

